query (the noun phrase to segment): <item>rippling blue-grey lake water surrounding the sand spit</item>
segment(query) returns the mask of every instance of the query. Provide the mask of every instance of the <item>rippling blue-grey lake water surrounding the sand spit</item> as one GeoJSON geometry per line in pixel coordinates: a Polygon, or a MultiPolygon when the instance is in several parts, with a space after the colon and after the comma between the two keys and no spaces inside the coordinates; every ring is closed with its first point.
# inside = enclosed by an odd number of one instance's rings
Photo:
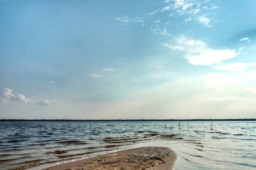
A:
{"type": "Polygon", "coordinates": [[[207,121],[181,122],[181,130],[178,122],[0,122],[0,170],[40,170],[141,146],[171,147],[176,170],[256,169],[256,122],[212,127],[207,121]]]}

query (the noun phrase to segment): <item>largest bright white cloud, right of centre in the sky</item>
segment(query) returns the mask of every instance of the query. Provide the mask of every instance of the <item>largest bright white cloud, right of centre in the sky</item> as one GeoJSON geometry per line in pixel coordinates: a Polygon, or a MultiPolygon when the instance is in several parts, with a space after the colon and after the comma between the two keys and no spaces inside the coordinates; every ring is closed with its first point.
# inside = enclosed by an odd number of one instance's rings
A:
{"type": "Polygon", "coordinates": [[[178,50],[181,53],[184,53],[183,57],[193,65],[210,66],[221,63],[225,59],[234,58],[238,55],[236,50],[208,48],[205,42],[188,39],[184,35],[175,38],[175,45],[169,45],[168,43],[164,43],[164,45],[172,50],[178,50]]]}

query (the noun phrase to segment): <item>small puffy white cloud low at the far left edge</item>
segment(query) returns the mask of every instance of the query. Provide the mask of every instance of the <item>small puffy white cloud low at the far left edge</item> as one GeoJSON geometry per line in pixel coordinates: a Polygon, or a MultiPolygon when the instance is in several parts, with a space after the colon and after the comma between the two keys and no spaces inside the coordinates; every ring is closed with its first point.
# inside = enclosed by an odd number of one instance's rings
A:
{"type": "Polygon", "coordinates": [[[17,102],[28,102],[30,99],[27,99],[24,95],[22,94],[12,94],[12,89],[5,88],[3,92],[3,100],[5,103],[7,102],[12,102],[12,101],[17,101],[17,102]]]}

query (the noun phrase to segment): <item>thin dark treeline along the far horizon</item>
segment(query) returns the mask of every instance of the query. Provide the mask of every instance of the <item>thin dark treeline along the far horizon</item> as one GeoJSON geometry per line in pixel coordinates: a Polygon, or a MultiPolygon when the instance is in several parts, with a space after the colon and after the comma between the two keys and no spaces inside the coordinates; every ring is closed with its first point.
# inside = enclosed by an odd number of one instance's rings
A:
{"type": "MultiPolygon", "coordinates": [[[[210,121],[211,119],[0,119],[0,122],[128,122],[128,121],[210,121]]],[[[212,119],[212,121],[256,121],[256,119],[212,119]]]]}

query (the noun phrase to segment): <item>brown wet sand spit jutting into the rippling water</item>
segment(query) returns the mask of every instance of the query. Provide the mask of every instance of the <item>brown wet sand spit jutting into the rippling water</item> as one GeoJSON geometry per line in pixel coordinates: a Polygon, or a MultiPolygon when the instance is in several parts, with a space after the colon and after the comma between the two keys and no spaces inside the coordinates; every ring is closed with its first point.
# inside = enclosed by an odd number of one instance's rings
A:
{"type": "Polygon", "coordinates": [[[176,155],[168,147],[138,147],[43,170],[172,170],[175,161],[176,155]]]}

